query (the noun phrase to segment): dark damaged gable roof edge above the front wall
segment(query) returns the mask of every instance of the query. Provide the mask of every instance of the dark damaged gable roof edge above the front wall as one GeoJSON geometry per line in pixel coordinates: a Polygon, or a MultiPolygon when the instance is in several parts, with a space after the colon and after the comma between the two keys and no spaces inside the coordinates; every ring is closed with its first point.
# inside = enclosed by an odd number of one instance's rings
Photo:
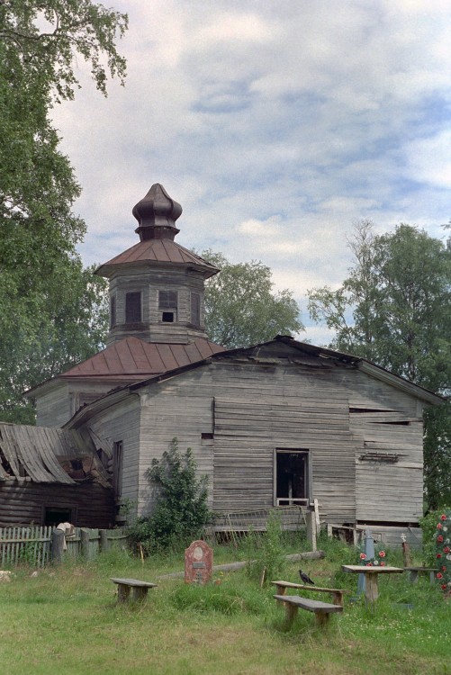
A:
{"type": "Polygon", "coordinates": [[[442,396],[439,396],[434,392],[429,392],[418,384],[410,383],[399,375],[392,374],[381,366],[372,364],[370,361],[366,361],[359,356],[352,356],[326,347],[315,347],[310,343],[299,342],[291,336],[276,336],[273,340],[251,347],[238,347],[234,349],[220,348],[210,356],[205,356],[202,360],[190,364],[179,365],[176,368],[154,374],[139,382],[124,385],[120,389],[110,392],[97,401],[86,405],[84,409],[78,410],[74,417],[68,420],[65,428],[71,428],[73,425],[80,425],[83,419],[85,419],[86,416],[89,416],[91,412],[102,410],[104,406],[113,405],[116,402],[122,401],[129,393],[137,392],[142,387],[149,386],[152,383],[164,382],[169,378],[176,377],[177,375],[184,374],[206,365],[212,360],[220,361],[221,359],[242,356],[254,363],[265,364],[274,360],[275,354],[280,358],[287,358],[293,363],[302,363],[304,365],[313,365],[313,362],[315,362],[315,365],[320,365],[322,367],[330,367],[333,365],[352,366],[365,374],[374,377],[376,380],[391,384],[396,389],[408,393],[410,396],[413,396],[428,405],[437,405],[444,401],[442,396]],[[272,355],[271,352],[273,353],[272,355]]]}

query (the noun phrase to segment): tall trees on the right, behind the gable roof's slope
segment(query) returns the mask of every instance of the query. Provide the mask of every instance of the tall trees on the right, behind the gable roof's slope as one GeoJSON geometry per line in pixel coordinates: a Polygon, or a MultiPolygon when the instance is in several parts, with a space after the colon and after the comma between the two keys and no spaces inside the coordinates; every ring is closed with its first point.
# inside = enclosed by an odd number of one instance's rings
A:
{"type": "MultiPolygon", "coordinates": [[[[355,255],[337,291],[309,292],[315,321],[335,330],[330,345],[362,356],[433,392],[451,383],[451,250],[424,230],[401,223],[374,236],[356,225],[355,255]]],[[[451,405],[425,415],[425,489],[428,506],[451,498],[451,405]]]]}

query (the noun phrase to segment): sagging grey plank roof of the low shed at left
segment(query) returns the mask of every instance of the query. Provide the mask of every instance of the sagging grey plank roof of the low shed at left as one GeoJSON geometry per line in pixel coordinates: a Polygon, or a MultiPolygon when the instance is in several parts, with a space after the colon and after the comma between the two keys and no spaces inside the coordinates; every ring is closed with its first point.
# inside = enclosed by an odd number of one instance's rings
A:
{"type": "MultiPolygon", "coordinates": [[[[104,448],[108,452],[108,448],[104,448]]],[[[75,430],[0,423],[0,482],[29,480],[110,487],[95,444],[75,430]]]]}

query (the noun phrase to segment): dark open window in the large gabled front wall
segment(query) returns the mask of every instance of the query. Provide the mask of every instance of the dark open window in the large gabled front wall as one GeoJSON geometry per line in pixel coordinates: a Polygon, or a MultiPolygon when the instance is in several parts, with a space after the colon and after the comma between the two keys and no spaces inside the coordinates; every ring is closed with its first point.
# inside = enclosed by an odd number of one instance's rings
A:
{"type": "Polygon", "coordinates": [[[275,451],[275,506],[310,501],[309,451],[275,451]]]}

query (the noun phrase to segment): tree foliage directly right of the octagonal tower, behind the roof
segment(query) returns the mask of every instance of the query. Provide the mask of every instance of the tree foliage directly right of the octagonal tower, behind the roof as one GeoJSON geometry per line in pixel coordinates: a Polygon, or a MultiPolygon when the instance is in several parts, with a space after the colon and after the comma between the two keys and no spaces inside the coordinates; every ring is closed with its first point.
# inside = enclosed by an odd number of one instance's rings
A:
{"type": "Polygon", "coordinates": [[[213,342],[248,347],[303,330],[293,293],[273,292],[269,267],[255,260],[233,265],[212,250],[200,255],[221,269],[205,284],[205,329],[213,342]]]}

